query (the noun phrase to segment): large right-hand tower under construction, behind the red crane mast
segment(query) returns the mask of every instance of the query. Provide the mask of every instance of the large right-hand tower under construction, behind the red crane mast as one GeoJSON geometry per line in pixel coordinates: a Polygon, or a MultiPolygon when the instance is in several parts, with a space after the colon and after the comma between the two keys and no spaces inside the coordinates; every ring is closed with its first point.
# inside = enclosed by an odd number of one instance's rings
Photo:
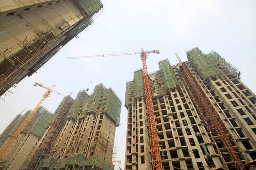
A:
{"type": "MultiPolygon", "coordinates": [[[[163,170],[253,169],[256,97],[215,51],[186,51],[188,61],[148,74],[163,170]]],[[[125,170],[151,170],[143,70],[126,84],[125,170]]]]}

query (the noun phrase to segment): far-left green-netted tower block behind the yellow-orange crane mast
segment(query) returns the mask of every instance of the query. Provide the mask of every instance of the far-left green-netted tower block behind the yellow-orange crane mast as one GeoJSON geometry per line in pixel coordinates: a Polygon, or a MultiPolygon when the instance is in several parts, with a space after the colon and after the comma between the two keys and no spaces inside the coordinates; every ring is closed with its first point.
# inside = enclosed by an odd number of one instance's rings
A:
{"type": "MultiPolygon", "coordinates": [[[[13,134],[20,124],[26,119],[31,111],[27,111],[19,122],[16,122],[14,129],[9,133],[13,134]]],[[[17,140],[12,144],[9,150],[6,152],[3,160],[0,163],[2,169],[19,170],[23,161],[29,152],[37,146],[42,139],[46,129],[45,126],[52,117],[52,113],[46,108],[41,106],[38,111],[34,114],[29,123],[24,127],[22,132],[17,137],[17,140]]],[[[10,135],[9,137],[11,137],[10,135]]],[[[9,139],[9,138],[8,138],[9,139]]],[[[6,139],[6,142],[8,142],[6,139]]]]}

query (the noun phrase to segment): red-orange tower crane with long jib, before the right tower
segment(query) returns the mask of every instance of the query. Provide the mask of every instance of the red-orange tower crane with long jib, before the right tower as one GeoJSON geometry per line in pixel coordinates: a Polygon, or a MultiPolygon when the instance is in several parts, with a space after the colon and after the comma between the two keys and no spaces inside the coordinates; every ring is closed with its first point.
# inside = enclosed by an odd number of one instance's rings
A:
{"type": "Polygon", "coordinates": [[[159,54],[159,50],[154,51],[144,51],[141,49],[141,52],[135,53],[121,53],[121,54],[102,54],[94,56],[82,56],[82,57],[68,57],[68,59],[81,59],[81,58],[92,58],[92,57],[108,57],[108,56],[123,56],[123,55],[134,55],[140,54],[142,65],[143,65],[143,78],[144,78],[144,87],[145,87],[145,99],[147,105],[147,115],[148,115],[148,129],[149,129],[149,138],[150,138],[150,148],[151,148],[151,158],[152,158],[152,167],[153,170],[162,170],[161,157],[159,151],[159,143],[157,141],[157,131],[154,120],[154,111],[153,111],[153,102],[151,97],[149,79],[148,79],[148,69],[146,58],[148,54],[155,53],[159,54]]]}

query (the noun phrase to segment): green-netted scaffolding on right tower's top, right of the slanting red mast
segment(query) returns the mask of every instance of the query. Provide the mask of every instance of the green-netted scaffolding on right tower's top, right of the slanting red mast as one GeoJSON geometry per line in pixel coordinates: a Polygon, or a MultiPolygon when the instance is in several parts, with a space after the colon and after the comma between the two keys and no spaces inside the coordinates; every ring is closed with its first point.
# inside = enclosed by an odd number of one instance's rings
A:
{"type": "Polygon", "coordinates": [[[202,53],[199,48],[186,51],[188,59],[195,65],[198,73],[205,79],[221,75],[223,71],[227,76],[239,77],[239,71],[215,51],[202,53]],[[221,70],[221,71],[220,71],[221,70]]]}

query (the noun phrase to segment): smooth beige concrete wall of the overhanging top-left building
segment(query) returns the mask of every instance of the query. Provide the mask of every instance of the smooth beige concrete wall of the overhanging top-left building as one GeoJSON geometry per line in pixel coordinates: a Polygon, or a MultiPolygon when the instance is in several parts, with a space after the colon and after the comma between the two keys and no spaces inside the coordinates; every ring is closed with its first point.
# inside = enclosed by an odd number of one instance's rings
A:
{"type": "MultiPolygon", "coordinates": [[[[3,1],[1,1],[3,2],[3,1]]],[[[6,3],[6,2],[3,2],[6,3]]],[[[73,1],[61,0],[59,3],[55,1],[49,2],[45,0],[40,3],[43,7],[38,7],[35,3],[33,6],[25,6],[21,11],[16,10],[14,15],[0,17],[0,52],[6,50],[7,47],[17,46],[17,43],[29,40],[33,42],[33,37],[38,36],[37,33],[51,31],[55,36],[73,26],[84,16],[73,1]],[[29,8],[29,11],[24,11],[29,8]]],[[[4,4],[2,4],[4,6],[4,4]]],[[[0,5],[1,6],[1,5],[0,5]]],[[[26,45],[24,43],[23,45],[26,45]]],[[[19,46],[12,48],[12,53],[17,52],[21,48],[19,46]]],[[[5,53],[6,57],[9,56],[5,53]]],[[[0,61],[3,57],[0,57],[0,61]]]]}

